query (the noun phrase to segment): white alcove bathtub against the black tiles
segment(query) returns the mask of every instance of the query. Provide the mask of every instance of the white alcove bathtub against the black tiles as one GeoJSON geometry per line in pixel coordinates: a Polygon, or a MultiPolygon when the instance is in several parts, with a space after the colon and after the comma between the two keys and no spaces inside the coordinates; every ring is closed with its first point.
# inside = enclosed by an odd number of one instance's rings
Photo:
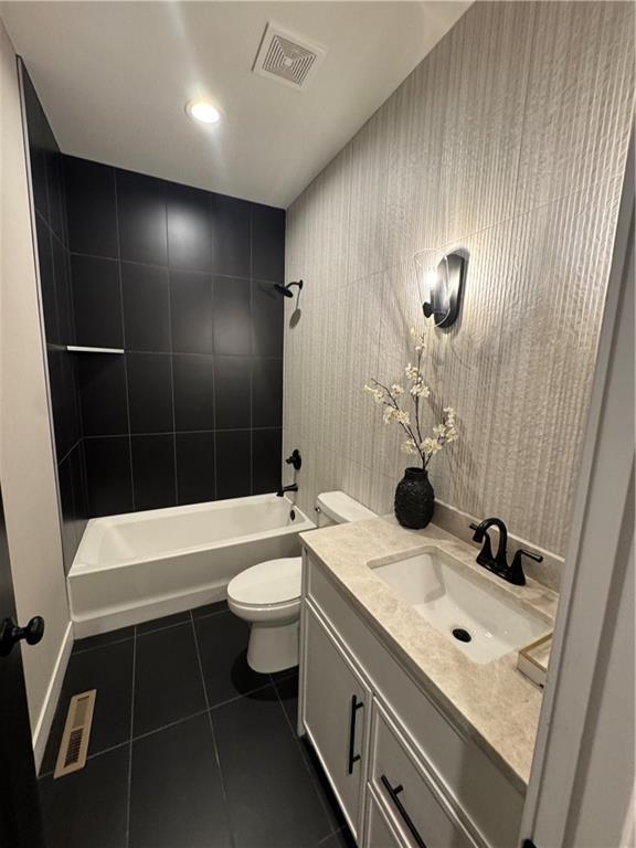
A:
{"type": "Polygon", "coordinates": [[[75,636],[221,601],[250,565],[299,555],[314,527],[276,495],[94,518],[67,576],[75,636]]]}

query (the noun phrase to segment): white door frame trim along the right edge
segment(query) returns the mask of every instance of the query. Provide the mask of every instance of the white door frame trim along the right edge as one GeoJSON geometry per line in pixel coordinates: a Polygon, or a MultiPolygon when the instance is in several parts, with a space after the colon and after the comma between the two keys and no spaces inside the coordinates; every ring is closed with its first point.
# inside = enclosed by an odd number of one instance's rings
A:
{"type": "Polygon", "coordinates": [[[522,835],[538,846],[633,845],[634,173],[632,144],[563,594],[523,810],[522,835]]]}

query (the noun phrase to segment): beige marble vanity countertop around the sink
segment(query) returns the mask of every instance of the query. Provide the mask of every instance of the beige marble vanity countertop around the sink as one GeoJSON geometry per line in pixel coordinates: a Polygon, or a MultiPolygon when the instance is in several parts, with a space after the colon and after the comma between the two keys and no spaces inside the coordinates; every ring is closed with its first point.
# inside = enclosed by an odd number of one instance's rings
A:
{"type": "Polygon", "coordinates": [[[526,586],[506,583],[476,564],[477,548],[434,524],[406,530],[393,516],[310,530],[300,539],[422,688],[526,792],[542,692],[517,669],[517,651],[484,665],[473,662],[374,574],[369,562],[396,560],[435,544],[495,592],[542,617],[547,632],[558,594],[531,580],[526,586]]]}

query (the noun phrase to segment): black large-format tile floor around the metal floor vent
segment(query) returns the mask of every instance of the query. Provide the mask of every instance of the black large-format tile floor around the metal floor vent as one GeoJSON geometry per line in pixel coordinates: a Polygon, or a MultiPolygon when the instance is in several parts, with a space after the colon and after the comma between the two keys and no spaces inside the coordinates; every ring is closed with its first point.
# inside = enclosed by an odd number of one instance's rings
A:
{"type": "Polygon", "coordinates": [[[352,848],[296,671],[247,666],[213,604],[75,643],[42,763],[47,848],[352,848]],[[97,689],[86,766],[53,780],[71,696],[97,689]]]}

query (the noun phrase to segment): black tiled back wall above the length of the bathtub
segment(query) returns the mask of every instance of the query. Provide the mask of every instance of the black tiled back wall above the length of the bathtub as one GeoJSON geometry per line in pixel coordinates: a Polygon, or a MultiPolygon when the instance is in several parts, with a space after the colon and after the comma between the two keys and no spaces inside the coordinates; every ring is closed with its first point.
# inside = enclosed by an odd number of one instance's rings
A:
{"type": "Polygon", "coordinates": [[[274,490],[285,212],[63,161],[89,515],[274,490]]]}

